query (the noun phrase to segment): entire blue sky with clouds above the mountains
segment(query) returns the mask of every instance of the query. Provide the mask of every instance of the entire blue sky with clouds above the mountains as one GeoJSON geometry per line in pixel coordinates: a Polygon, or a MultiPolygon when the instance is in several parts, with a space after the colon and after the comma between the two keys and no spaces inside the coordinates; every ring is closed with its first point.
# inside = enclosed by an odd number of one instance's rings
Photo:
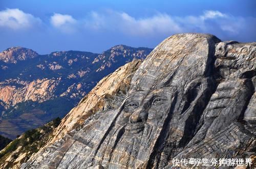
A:
{"type": "Polygon", "coordinates": [[[118,44],[154,48],[166,37],[210,33],[256,41],[256,1],[1,0],[0,50],[102,52],[118,44]]]}

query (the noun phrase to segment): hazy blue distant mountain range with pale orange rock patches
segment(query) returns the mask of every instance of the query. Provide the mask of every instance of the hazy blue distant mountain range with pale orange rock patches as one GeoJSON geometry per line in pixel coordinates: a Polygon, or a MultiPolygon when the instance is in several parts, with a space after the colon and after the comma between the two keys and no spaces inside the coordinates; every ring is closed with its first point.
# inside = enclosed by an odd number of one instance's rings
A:
{"type": "Polygon", "coordinates": [[[104,76],[150,48],[117,45],[98,53],[57,51],[40,55],[11,47],[0,53],[0,134],[23,132],[65,116],[104,76]]]}

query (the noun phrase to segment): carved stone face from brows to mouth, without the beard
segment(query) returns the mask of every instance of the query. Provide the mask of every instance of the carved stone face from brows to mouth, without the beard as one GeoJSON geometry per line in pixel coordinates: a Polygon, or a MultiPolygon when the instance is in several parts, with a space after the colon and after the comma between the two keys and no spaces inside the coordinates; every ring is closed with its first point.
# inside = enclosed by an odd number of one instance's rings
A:
{"type": "Polygon", "coordinates": [[[147,126],[155,126],[168,114],[174,87],[164,87],[152,91],[133,92],[125,100],[120,125],[125,133],[136,134],[147,126]]]}

